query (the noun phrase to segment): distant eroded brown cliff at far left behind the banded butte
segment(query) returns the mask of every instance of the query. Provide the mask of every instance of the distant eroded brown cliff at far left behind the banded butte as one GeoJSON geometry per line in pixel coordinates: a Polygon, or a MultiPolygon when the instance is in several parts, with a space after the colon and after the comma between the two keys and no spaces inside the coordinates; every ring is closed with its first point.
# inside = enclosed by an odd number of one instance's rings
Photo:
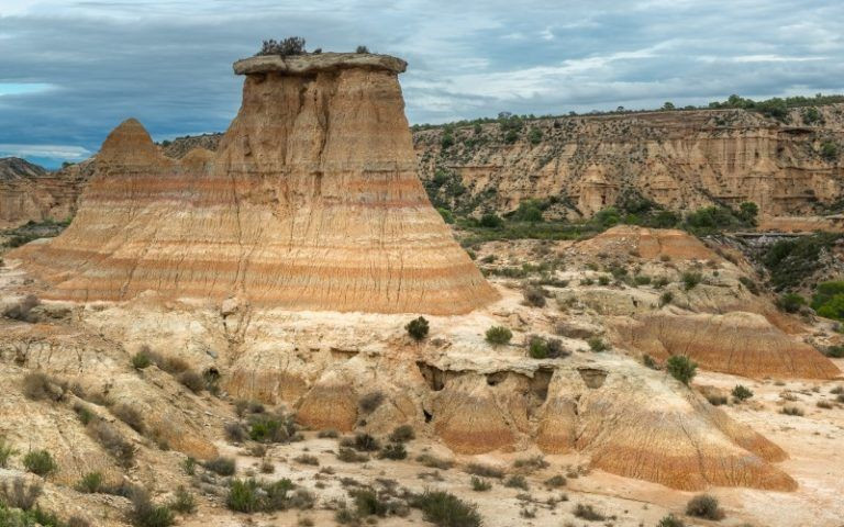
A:
{"type": "Polygon", "coordinates": [[[24,159],[0,159],[0,228],[74,215],[87,164],[49,172],[24,159]]]}

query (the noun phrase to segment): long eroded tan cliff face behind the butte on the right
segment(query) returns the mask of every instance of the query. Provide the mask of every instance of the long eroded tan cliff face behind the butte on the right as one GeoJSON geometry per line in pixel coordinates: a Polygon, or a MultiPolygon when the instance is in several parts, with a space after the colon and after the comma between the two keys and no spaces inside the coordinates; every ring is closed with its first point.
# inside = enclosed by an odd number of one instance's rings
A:
{"type": "Polygon", "coordinates": [[[844,145],[844,105],[819,111],[811,126],[800,110],[790,124],[702,110],[525,121],[512,143],[498,123],[455,130],[445,149],[443,128],[413,142],[434,201],[465,213],[551,199],[552,215],[577,218],[643,197],[675,211],[753,201],[763,215],[806,214],[844,195],[844,165],[821,152],[844,145]]]}

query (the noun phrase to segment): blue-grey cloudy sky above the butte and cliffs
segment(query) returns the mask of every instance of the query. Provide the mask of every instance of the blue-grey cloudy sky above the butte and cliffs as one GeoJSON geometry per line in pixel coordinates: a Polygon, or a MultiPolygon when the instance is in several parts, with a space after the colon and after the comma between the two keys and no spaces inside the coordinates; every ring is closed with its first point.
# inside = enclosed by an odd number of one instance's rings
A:
{"type": "Polygon", "coordinates": [[[265,38],[410,64],[411,123],[844,92],[842,0],[0,0],[0,157],[223,131],[265,38]]]}

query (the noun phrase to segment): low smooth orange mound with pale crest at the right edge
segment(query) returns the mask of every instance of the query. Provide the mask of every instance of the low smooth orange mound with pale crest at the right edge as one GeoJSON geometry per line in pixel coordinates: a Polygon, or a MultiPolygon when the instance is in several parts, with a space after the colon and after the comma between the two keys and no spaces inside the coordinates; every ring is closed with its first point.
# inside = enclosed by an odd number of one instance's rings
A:
{"type": "Polygon", "coordinates": [[[620,343],[657,360],[684,355],[701,368],[749,378],[834,379],[841,371],[820,351],[754,313],[654,313],[617,326],[620,343]]]}

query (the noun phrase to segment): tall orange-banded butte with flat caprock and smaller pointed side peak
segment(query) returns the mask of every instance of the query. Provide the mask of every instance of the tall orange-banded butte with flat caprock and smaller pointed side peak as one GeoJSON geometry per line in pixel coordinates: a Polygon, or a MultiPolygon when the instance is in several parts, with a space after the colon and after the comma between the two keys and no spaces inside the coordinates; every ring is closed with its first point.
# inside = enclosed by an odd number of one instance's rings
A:
{"type": "Polygon", "coordinates": [[[417,175],[398,74],[373,54],[235,63],[215,153],[163,155],[129,120],[73,224],[11,257],[78,301],[238,295],[290,310],[459,314],[497,299],[417,175]]]}

